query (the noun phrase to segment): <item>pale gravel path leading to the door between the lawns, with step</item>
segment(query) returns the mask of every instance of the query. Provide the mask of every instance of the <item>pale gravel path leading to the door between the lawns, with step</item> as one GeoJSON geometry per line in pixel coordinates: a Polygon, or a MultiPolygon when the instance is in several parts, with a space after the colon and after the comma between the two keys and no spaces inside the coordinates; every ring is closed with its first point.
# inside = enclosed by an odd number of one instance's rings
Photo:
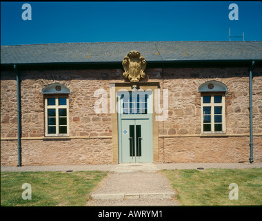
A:
{"type": "Polygon", "coordinates": [[[160,172],[110,172],[91,194],[87,206],[179,205],[169,180],[160,172]]]}

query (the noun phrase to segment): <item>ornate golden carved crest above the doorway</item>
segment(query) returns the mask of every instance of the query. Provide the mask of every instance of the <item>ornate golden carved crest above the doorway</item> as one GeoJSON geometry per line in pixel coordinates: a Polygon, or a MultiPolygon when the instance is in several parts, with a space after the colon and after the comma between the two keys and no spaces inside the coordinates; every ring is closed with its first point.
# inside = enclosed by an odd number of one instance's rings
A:
{"type": "Polygon", "coordinates": [[[146,61],[144,57],[137,50],[131,50],[127,56],[123,58],[123,69],[125,73],[123,73],[123,77],[128,77],[128,79],[132,82],[139,81],[140,78],[145,77],[146,61]]]}

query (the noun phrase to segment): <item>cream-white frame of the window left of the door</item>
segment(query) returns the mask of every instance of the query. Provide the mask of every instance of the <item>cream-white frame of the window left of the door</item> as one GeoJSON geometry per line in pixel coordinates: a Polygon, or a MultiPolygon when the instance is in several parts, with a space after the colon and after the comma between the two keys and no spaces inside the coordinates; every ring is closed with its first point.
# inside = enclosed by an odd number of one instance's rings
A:
{"type": "Polygon", "coordinates": [[[45,97],[45,136],[46,137],[68,137],[69,136],[69,99],[68,95],[49,95],[45,97]],[[48,106],[48,98],[55,99],[55,105],[48,106]],[[66,98],[66,105],[59,105],[59,98],[66,98]],[[66,108],[66,129],[67,133],[59,133],[59,108],[66,108]],[[48,109],[56,111],[56,133],[48,133],[48,109]]]}

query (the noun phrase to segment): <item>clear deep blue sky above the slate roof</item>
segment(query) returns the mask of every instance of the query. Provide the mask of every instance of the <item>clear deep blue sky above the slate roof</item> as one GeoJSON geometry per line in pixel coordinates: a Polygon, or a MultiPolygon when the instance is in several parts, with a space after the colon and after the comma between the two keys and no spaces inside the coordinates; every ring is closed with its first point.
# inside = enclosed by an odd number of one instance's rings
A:
{"type": "Polygon", "coordinates": [[[232,36],[262,41],[262,2],[1,2],[1,45],[228,41],[229,28],[232,36]],[[22,19],[23,3],[30,3],[32,20],[22,19]],[[239,20],[229,19],[230,3],[239,7],[239,20]]]}

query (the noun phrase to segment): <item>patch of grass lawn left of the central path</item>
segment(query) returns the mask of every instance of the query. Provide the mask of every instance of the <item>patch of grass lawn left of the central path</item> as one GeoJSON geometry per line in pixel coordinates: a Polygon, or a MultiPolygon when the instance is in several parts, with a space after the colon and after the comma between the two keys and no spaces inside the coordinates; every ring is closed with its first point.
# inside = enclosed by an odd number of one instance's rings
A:
{"type": "Polygon", "coordinates": [[[102,171],[1,172],[1,206],[85,206],[105,175],[102,171]],[[32,187],[31,200],[22,198],[24,183],[32,187]]]}

